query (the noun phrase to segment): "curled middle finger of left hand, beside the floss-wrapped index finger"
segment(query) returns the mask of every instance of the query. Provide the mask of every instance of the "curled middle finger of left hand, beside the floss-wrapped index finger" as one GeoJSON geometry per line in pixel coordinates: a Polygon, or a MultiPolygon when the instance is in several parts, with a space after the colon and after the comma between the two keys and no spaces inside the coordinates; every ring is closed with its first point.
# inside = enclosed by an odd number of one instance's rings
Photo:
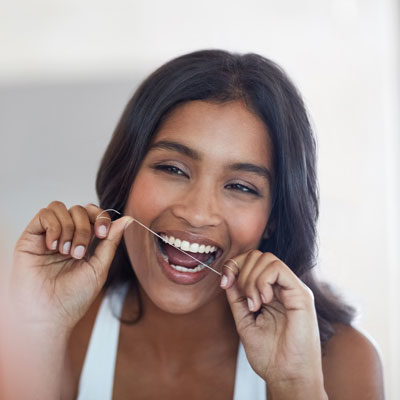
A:
{"type": "Polygon", "coordinates": [[[86,253],[92,238],[92,227],[86,209],[82,206],[73,206],[69,209],[75,225],[74,237],[72,239],[71,255],[80,260],[86,253]]]}

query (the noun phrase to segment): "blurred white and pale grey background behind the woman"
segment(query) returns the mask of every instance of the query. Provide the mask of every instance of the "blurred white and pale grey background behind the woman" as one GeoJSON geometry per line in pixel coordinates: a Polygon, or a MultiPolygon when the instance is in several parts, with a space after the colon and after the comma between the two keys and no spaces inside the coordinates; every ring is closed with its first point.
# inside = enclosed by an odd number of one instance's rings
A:
{"type": "Polygon", "coordinates": [[[154,68],[203,48],[258,52],[304,95],[319,145],[319,268],[358,307],[387,397],[400,398],[399,9],[396,0],[0,3],[1,271],[41,207],[96,201],[112,130],[154,68]]]}

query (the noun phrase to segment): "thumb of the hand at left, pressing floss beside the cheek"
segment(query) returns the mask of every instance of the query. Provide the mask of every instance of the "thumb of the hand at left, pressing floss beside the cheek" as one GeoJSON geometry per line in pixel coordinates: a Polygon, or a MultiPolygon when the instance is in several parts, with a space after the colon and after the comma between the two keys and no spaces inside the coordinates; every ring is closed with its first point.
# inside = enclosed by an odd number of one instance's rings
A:
{"type": "Polygon", "coordinates": [[[93,255],[88,260],[88,263],[95,269],[101,285],[106,280],[108,269],[110,268],[122,235],[131,222],[133,222],[133,219],[127,216],[113,221],[107,237],[101,240],[93,255]]]}

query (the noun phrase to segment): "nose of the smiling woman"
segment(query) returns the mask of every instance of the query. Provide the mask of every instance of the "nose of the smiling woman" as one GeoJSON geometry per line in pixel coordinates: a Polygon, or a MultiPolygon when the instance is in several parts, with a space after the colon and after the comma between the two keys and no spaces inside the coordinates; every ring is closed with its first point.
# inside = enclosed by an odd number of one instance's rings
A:
{"type": "Polygon", "coordinates": [[[207,185],[193,185],[172,206],[175,217],[193,228],[217,226],[222,221],[218,195],[207,185]]]}

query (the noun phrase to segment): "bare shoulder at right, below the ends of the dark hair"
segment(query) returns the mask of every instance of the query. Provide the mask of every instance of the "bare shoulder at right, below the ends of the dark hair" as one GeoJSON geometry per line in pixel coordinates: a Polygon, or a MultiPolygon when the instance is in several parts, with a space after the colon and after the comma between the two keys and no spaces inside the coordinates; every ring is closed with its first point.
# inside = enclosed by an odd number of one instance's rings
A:
{"type": "Polygon", "coordinates": [[[384,398],[382,363],[374,344],[352,326],[335,325],[322,366],[330,400],[384,398]]]}

